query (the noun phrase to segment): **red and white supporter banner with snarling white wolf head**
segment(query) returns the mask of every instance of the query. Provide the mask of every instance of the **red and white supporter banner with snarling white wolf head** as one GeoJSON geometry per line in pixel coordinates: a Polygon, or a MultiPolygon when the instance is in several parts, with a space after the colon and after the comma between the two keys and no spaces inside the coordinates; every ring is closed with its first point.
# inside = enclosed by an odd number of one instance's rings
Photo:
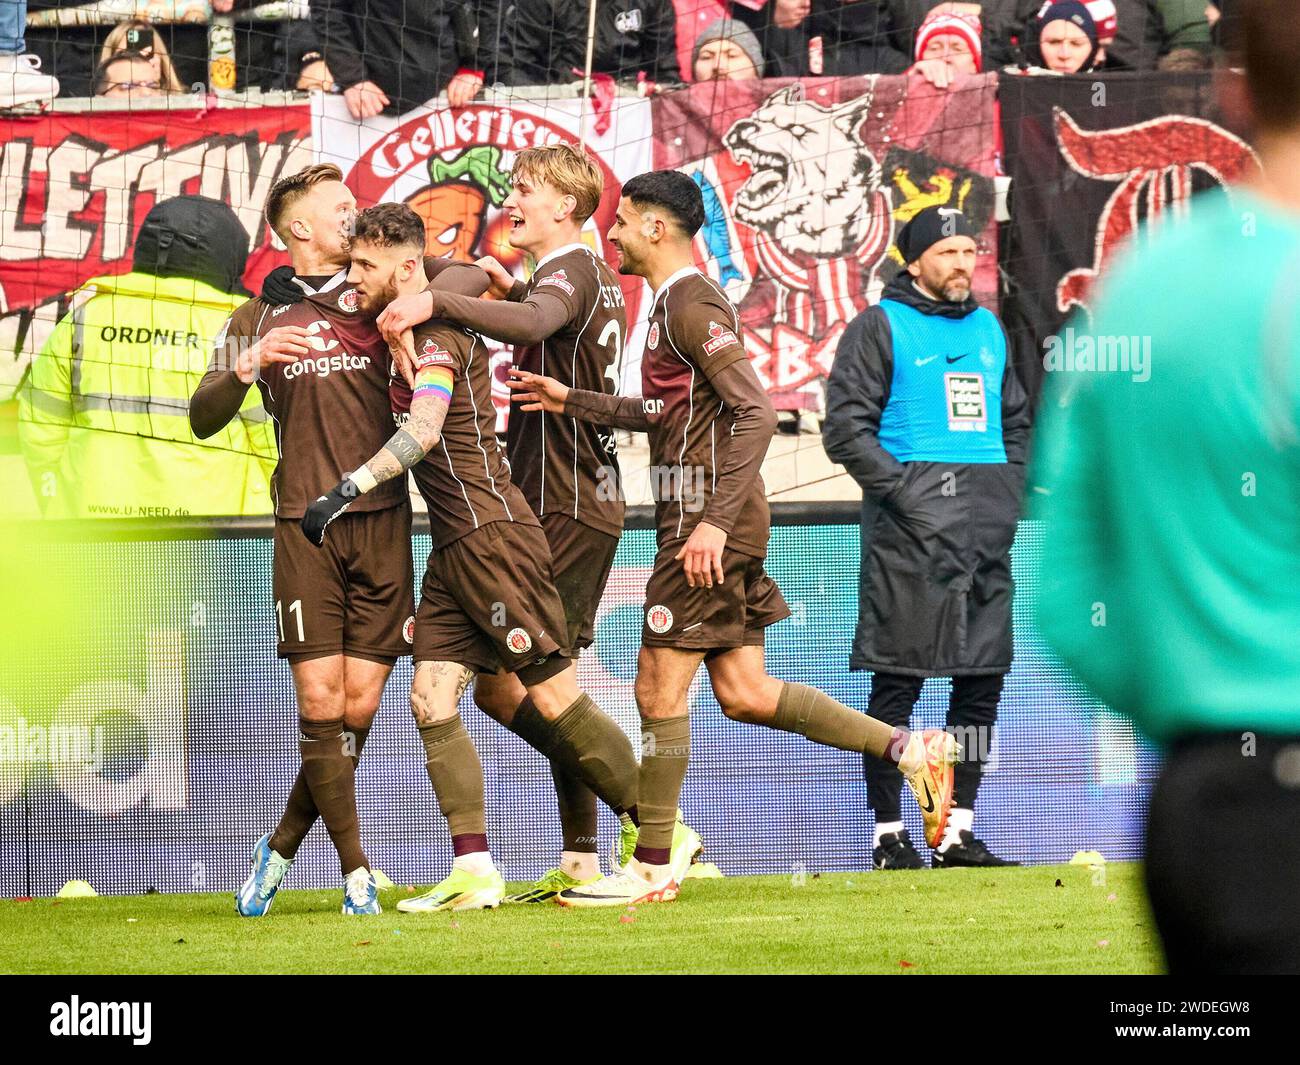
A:
{"type": "Polygon", "coordinates": [[[901,268],[894,237],[926,207],[961,207],[983,230],[974,290],[997,308],[996,88],[994,75],[949,90],[870,75],[655,99],[654,164],[699,185],[697,257],[740,307],[779,408],[822,408],[845,326],[901,268]]]}

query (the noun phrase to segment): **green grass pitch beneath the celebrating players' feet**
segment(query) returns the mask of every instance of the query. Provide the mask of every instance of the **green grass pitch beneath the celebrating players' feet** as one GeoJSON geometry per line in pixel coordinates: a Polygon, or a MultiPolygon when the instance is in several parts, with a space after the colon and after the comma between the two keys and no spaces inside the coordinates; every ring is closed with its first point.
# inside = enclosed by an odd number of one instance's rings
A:
{"type": "Polygon", "coordinates": [[[344,918],[339,891],[0,900],[6,973],[1157,973],[1141,867],[688,880],[634,913],[551,904],[344,918]],[[1060,882],[1060,886],[1058,883],[1060,882]]]}

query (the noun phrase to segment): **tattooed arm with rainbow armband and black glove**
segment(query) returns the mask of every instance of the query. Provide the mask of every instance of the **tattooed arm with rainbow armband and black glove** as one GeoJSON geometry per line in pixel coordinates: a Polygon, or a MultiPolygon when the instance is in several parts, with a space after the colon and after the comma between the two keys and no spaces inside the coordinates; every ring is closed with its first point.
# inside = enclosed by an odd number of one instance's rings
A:
{"type": "Polygon", "coordinates": [[[420,367],[411,397],[411,415],[389,442],[363,467],[352,471],[303,514],[303,533],[317,547],[325,545],[325,529],[359,495],[391,481],[419,463],[438,443],[451,404],[455,377],[447,365],[420,367]]]}

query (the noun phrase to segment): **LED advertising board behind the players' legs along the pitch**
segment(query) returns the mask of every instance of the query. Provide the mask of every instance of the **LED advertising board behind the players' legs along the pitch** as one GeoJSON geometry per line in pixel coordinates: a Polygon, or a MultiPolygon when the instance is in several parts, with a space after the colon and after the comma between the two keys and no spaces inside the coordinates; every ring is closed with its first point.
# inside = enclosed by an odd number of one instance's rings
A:
{"type": "MultiPolygon", "coordinates": [[[[417,559],[428,546],[428,536],[416,537],[417,559]]],[[[1039,546],[1036,523],[1022,523],[1017,657],[993,743],[982,752],[982,834],[1020,861],[1069,861],[1093,849],[1135,858],[1156,756],[1034,632],[1039,546]]],[[[857,551],[853,524],[774,528],[771,573],[793,616],[771,631],[767,659],[777,676],[864,707],[870,674],[848,671],[857,551]]],[[[653,558],[650,529],[624,533],[595,645],[578,667],[584,689],[634,746],[632,683],[653,558]]],[[[31,607],[27,635],[10,637],[22,659],[0,703],[0,896],[49,895],[69,879],[113,893],[238,886],[298,771],[276,619],[256,609],[270,599],[269,537],[31,544],[13,564],[42,575],[46,601],[31,607]],[[51,644],[49,632],[65,638],[51,644]]],[[[410,680],[403,659],[361,756],[358,798],[372,862],[399,883],[426,883],[450,867],[451,844],[411,720],[410,680]]],[[[927,683],[916,727],[942,727],[948,688],[927,683]]],[[[728,720],[703,674],[690,707],[681,805],[708,861],[728,875],[870,866],[859,756],[728,720]]],[[[462,713],[482,759],[488,835],[502,873],[538,875],[560,848],[550,770],[468,696],[462,713]]],[[[904,809],[913,839],[922,839],[915,804],[904,809]]],[[[602,808],[602,853],[612,832],[602,808]]],[[[337,880],[337,857],[317,826],[291,886],[337,880]]]]}

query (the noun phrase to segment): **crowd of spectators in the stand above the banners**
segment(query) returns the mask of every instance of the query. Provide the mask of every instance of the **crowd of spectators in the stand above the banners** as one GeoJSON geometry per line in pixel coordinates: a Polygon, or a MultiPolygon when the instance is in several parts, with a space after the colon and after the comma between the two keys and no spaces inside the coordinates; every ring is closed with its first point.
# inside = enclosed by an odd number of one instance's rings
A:
{"type": "MultiPolygon", "coordinates": [[[[595,0],[598,79],[662,92],[685,82],[901,74],[956,77],[1208,68],[1232,0],[595,0]]],[[[61,0],[30,0],[32,8],[61,0]]],[[[252,0],[213,0],[218,13],[252,0]]],[[[69,5],[64,3],[62,5],[69,5]]],[[[204,86],[207,27],[58,27],[27,34],[0,0],[0,108],[62,95],[161,96],[204,86]],[[58,81],[56,81],[56,77],[58,81]]],[[[586,68],[584,0],[311,0],[309,21],[242,20],[239,86],[342,92],[360,118],[485,86],[567,86],[586,68]]]]}

